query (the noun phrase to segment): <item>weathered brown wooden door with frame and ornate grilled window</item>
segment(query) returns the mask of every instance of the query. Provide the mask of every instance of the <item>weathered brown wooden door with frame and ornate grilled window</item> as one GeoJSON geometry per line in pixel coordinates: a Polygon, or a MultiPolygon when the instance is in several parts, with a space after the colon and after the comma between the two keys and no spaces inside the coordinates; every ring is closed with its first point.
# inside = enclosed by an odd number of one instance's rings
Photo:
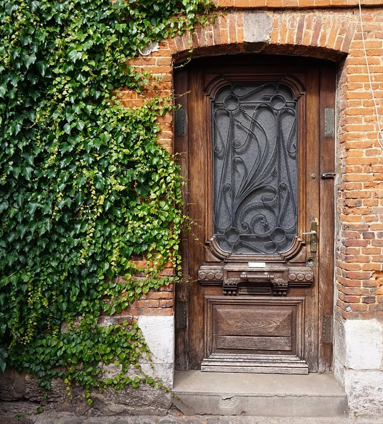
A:
{"type": "Polygon", "coordinates": [[[175,91],[193,221],[176,287],[176,368],[330,371],[331,64],[200,59],[175,74],[175,91]]]}

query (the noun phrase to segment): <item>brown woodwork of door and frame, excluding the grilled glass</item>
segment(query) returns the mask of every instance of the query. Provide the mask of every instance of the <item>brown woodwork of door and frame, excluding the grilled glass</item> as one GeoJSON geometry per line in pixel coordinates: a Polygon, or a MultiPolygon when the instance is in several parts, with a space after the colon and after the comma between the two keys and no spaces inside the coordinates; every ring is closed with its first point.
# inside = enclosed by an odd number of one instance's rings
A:
{"type": "Polygon", "coordinates": [[[177,70],[175,93],[183,94],[176,98],[176,102],[183,108],[185,125],[183,135],[177,135],[176,130],[175,150],[180,153],[179,163],[185,178],[185,213],[192,216],[195,224],[192,232],[182,238],[180,246],[183,275],[189,276],[190,266],[196,268],[187,284],[176,285],[176,369],[199,368],[202,364],[202,369],[206,371],[330,372],[332,337],[328,333],[332,331],[333,314],[334,199],[333,180],[321,178],[321,175],[332,173],[334,168],[334,138],[326,135],[324,120],[325,109],[333,110],[334,107],[333,64],[314,59],[257,55],[199,59],[177,70]],[[310,221],[319,220],[318,252],[315,254],[307,254],[310,236],[305,239],[299,233],[292,246],[283,254],[231,255],[227,262],[226,252],[220,249],[214,237],[209,238],[209,234],[212,234],[212,220],[206,217],[212,216],[211,190],[208,187],[201,190],[199,195],[203,200],[200,205],[190,202],[190,189],[192,197],[195,196],[193,193],[196,193],[198,187],[206,187],[206,175],[212,173],[211,150],[209,153],[207,149],[202,162],[197,163],[195,157],[201,155],[201,148],[205,147],[204,143],[211,134],[211,119],[205,119],[206,111],[209,112],[210,108],[208,102],[211,102],[214,92],[225,85],[226,77],[219,76],[217,69],[222,67],[223,74],[226,72],[227,75],[234,66],[240,69],[232,77],[235,81],[241,81],[241,78],[249,81],[249,76],[253,81],[265,81],[265,78],[271,80],[271,74],[274,73],[275,80],[279,78],[294,87],[297,98],[305,97],[298,107],[298,139],[301,143],[298,205],[305,211],[298,214],[297,225],[300,232],[308,232],[310,221]],[[271,73],[266,72],[267,68],[271,69],[271,73]],[[297,75],[296,79],[294,74],[297,75]],[[305,85],[303,89],[302,82],[305,85]],[[310,86],[312,88],[306,89],[310,86]],[[308,135],[308,138],[311,137],[310,151],[304,145],[306,138],[303,127],[309,128],[314,134],[308,135]],[[205,141],[197,143],[196,140],[205,141]],[[315,145],[317,151],[311,152],[315,145]],[[190,174],[193,174],[193,181],[190,174]],[[307,189],[309,201],[305,194],[306,186],[314,187],[307,189]],[[317,203],[315,207],[318,214],[315,216],[308,205],[313,202],[317,203]],[[189,243],[195,243],[192,251],[189,251],[189,243]],[[304,254],[302,245],[306,246],[303,248],[304,254]],[[193,265],[196,255],[200,255],[198,267],[193,265]],[[247,267],[246,263],[254,261],[254,258],[259,262],[267,262],[268,272],[263,268],[247,267]],[[306,260],[309,258],[315,261],[314,267],[307,266],[306,260]],[[289,266],[285,266],[287,262],[289,266]],[[245,274],[247,282],[242,280],[245,274]],[[309,294],[306,298],[307,293],[313,290],[315,295],[309,294]],[[227,303],[227,299],[231,303],[227,303]],[[314,317],[309,313],[313,308],[314,317]],[[195,311],[201,312],[196,314],[195,311]],[[289,329],[281,335],[258,332],[256,337],[252,330],[247,330],[249,334],[238,333],[233,336],[230,333],[233,330],[230,329],[225,335],[230,325],[236,327],[235,322],[224,322],[224,318],[221,321],[214,320],[217,320],[217,316],[225,317],[227,311],[230,311],[227,315],[232,316],[243,314],[251,328],[258,328],[257,317],[263,316],[264,322],[276,320],[278,323],[279,319],[280,322],[288,322],[289,329]],[[244,348],[250,341],[252,346],[257,347],[255,365],[252,362],[255,357],[244,348]],[[222,354],[221,348],[228,350],[222,354]],[[262,350],[264,348],[266,350],[262,350]],[[274,355],[269,355],[270,349],[275,350],[274,355]],[[290,352],[289,355],[285,355],[286,352],[290,352]],[[238,359],[245,364],[243,367],[238,359]],[[286,362],[289,364],[283,366],[286,362]]]}

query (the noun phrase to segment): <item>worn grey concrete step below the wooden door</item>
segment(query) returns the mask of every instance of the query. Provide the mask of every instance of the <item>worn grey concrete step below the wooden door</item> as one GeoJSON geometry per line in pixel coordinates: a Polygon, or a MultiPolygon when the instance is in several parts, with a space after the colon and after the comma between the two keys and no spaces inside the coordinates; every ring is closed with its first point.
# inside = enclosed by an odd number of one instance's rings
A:
{"type": "Polygon", "coordinates": [[[173,404],[185,415],[341,417],[347,396],[332,375],[176,371],[173,404]]]}

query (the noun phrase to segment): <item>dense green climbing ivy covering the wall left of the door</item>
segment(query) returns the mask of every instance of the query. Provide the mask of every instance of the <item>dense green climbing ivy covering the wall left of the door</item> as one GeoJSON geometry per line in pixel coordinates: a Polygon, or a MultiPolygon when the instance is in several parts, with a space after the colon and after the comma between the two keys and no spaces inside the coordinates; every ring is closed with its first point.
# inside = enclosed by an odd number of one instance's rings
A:
{"type": "MultiPolygon", "coordinates": [[[[169,284],[181,181],[157,144],[155,97],[124,109],[127,61],[190,30],[208,0],[0,0],[0,368],[91,387],[133,386],[148,349],[133,323],[100,325],[169,284]],[[132,255],[151,266],[137,269],[132,255]],[[135,280],[137,271],[147,278],[135,280]],[[124,275],[125,278],[120,276],[124,275]],[[103,375],[113,363],[118,373],[103,375]]],[[[165,102],[166,103],[166,102],[165,102]]],[[[88,399],[91,403],[91,399],[88,399]]]]}

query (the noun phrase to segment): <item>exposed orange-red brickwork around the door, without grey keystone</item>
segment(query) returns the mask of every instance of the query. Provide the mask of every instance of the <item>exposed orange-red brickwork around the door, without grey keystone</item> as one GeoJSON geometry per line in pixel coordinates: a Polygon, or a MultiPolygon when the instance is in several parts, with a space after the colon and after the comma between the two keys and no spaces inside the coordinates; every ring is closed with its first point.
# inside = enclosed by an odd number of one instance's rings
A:
{"type": "MultiPolygon", "coordinates": [[[[361,0],[361,3],[370,6],[363,8],[364,33],[383,125],[383,6],[371,7],[379,5],[381,0],[361,0]]],[[[376,140],[377,121],[359,11],[355,7],[357,0],[218,0],[218,5],[226,9],[218,10],[214,23],[197,28],[193,35],[163,40],[158,52],[131,61],[132,65],[163,79],[151,84],[143,95],[121,90],[124,104],[138,106],[153,92],[171,93],[172,66],[188,57],[190,48],[194,49],[192,57],[248,52],[249,46],[244,42],[244,14],[249,9],[261,8],[272,18],[270,40],[264,44],[262,53],[336,61],[339,69],[336,310],[344,318],[383,318],[383,152],[376,140]]],[[[162,128],[159,143],[172,151],[172,115],[161,117],[159,123],[162,128]]],[[[158,295],[150,293],[137,301],[129,313],[173,313],[172,302],[171,289],[158,295]]]]}

